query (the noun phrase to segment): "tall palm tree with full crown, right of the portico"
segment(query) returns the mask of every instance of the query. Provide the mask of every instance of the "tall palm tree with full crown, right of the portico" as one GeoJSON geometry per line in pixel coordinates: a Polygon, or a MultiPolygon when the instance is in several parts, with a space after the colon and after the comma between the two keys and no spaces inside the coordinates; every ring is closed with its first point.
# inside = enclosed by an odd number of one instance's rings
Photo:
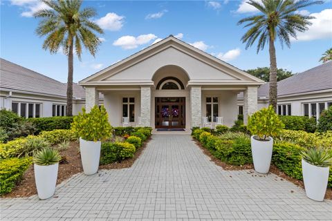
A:
{"type": "Polygon", "coordinates": [[[322,3],[322,1],[306,0],[249,0],[248,4],[259,10],[260,15],[250,16],[241,19],[237,24],[246,23],[250,27],[248,32],[241,38],[246,42],[248,49],[255,41],[257,44],[257,53],[263,50],[268,43],[270,52],[270,92],[269,103],[273,108],[277,108],[277,58],[275,55],[275,41],[279,39],[282,47],[284,43],[288,48],[291,46],[291,37],[297,37],[297,32],[308,30],[311,25],[309,19],[314,17],[299,15],[297,11],[306,6],[322,3]]]}

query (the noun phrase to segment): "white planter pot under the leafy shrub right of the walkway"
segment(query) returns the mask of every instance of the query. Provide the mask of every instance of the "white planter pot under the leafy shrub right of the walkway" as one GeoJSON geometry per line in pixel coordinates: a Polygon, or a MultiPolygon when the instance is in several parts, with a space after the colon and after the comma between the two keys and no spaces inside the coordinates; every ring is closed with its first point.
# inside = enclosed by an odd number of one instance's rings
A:
{"type": "Polygon", "coordinates": [[[273,138],[268,137],[270,140],[260,141],[254,137],[256,136],[251,136],[251,152],[255,171],[258,173],[268,173],[273,151],[273,138]]]}

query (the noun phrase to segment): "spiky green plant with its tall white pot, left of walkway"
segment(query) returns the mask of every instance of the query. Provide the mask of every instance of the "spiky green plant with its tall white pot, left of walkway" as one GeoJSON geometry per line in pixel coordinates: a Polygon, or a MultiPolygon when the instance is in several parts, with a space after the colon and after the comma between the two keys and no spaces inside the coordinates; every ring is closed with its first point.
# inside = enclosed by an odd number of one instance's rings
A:
{"type": "Polygon", "coordinates": [[[54,194],[61,159],[59,152],[50,147],[34,155],[35,182],[39,199],[45,200],[54,194]]]}

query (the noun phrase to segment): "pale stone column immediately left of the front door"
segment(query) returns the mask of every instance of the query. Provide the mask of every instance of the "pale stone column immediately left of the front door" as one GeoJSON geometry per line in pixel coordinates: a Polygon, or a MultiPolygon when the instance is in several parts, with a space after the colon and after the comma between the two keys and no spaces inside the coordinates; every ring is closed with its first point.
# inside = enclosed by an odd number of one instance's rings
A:
{"type": "Polygon", "coordinates": [[[151,126],[151,87],[140,87],[140,117],[142,126],[151,126]]]}

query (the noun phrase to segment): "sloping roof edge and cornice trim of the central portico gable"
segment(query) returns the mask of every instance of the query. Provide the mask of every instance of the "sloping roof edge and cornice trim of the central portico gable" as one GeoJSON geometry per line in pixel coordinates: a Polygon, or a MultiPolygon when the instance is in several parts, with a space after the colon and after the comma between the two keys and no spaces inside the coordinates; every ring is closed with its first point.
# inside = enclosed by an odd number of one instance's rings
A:
{"type": "Polygon", "coordinates": [[[125,70],[126,68],[129,68],[130,66],[133,66],[134,64],[137,64],[138,62],[147,59],[147,57],[151,57],[158,52],[165,50],[165,48],[169,47],[176,47],[181,48],[185,50],[186,52],[190,53],[192,56],[199,57],[201,61],[209,62],[210,64],[214,64],[214,67],[216,68],[225,68],[228,70],[234,71],[234,73],[237,73],[238,75],[245,77],[246,79],[250,79],[249,81],[254,82],[257,85],[264,84],[264,81],[261,79],[254,77],[243,70],[240,70],[239,68],[236,68],[225,61],[222,61],[221,59],[218,59],[207,52],[204,52],[202,50],[199,50],[198,48],[195,48],[194,46],[191,46],[190,44],[185,43],[184,41],[181,41],[179,39],[176,39],[173,35],[169,35],[169,37],[163,39],[162,41],[159,41],[156,44],[153,44],[145,49],[140,50],[139,52],[136,52],[135,54],[122,59],[121,61],[118,61],[116,64],[113,64],[107,68],[104,68],[103,70],[100,70],[98,73],[95,73],[89,77],[86,77],[85,79],[82,79],[79,84],[81,85],[88,85],[91,81],[100,81],[100,79],[105,75],[105,73],[112,72],[111,75],[115,75],[116,73],[120,73],[120,71],[125,70]]]}

